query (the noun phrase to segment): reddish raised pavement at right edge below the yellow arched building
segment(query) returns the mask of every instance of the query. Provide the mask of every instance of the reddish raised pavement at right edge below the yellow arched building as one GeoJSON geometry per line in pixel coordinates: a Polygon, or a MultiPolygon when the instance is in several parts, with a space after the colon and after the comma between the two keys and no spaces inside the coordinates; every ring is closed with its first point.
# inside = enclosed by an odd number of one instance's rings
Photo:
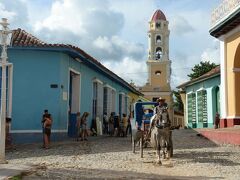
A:
{"type": "Polygon", "coordinates": [[[240,145],[240,128],[195,129],[202,136],[218,144],[240,145]]]}

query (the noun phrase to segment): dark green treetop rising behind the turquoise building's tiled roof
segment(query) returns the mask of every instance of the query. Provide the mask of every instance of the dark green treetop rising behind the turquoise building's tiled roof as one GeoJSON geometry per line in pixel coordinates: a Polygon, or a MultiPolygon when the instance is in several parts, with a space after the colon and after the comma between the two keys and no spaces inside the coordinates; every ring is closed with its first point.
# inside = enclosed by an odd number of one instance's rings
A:
{"type": "Polygon", "coordinates": [[[217,65],[215,63],[210,63],[209,61],[201,61],[192,68],[192,73],[188,74],[191,80],[202,76],[203,74],[211,71],[217,65]]]}

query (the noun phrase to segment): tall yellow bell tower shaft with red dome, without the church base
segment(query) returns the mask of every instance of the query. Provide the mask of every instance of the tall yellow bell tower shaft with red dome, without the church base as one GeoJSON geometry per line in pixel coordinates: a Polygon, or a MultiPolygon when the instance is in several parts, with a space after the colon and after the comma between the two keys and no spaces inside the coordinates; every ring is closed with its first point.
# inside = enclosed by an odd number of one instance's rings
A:
{"type": "Polygon", "coordinates": [[[161,91],[170,91],[169,34],[165,15],[161,10],[157,10],[149,22],[147,83],[161,91]]]}

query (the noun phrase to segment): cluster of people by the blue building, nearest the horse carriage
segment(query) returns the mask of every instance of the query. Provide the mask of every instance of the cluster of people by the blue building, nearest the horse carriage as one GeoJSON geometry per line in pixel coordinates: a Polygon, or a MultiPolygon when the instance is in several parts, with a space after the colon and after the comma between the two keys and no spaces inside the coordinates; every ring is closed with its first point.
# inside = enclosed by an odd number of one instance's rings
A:
{"type": "Polygon", "coordinates": [[[120,119],[119,116],[115,116],[115,113],[112,112],[108,118],[107,113],[104,113],[104,134],[109,134],[110,136],[127,137],[128,132],[131,133],[130,116],[127,117],[126,114],[122,114],[122,118],[120,119]]]}

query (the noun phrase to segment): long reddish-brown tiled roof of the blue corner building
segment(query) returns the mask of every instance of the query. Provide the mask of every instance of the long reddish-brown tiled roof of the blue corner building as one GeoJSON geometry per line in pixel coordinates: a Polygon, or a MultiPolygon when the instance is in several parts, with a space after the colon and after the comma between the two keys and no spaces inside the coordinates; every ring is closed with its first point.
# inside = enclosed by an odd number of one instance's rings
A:
{"type": "Polygon", "coordinates": [[[135,88],[133,88],[128,82],[124,81],[121,77],[116,75],[114,72],[106,68],[103,64],[101,64],[98,60],[87,54],[85,51],[80,49],[77,46],[73,46],[70,44],[49,44],[41,41],[40,39],[36,38],[35,36],[31,35],[30,33],[18,28],[16,30],[13,30],[12,37],[11,37],[11,44],[13,47],[40,47],[40,48],[67,48],[70,50],[74,50],[77,53],[80,53],[83,55],[87,60],[94,63],[97,67],[102,69],[103,71],[107,72],[109,75],[111,75],[114,79],[117,79],[119,82],[123,83],[125,86],[127,86],[129,89],[131,89],[133,92],[142,95],[141,92],[137,91],[135,88]]]}

